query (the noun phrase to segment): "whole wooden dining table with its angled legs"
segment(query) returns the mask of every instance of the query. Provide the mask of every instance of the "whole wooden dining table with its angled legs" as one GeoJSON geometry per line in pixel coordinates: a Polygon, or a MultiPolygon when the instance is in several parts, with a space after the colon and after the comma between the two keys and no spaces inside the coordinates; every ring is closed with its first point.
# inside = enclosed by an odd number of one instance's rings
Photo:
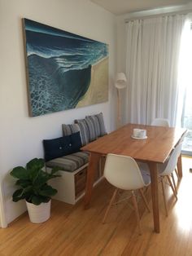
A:
{"type": "MultiPolygon", "coordinates": [[[[136,161],[146,162],[151,174],[151,197],[155,232],[160,232],[159,223],[159,193],[157,164],[166,161],[177,145],[182,135],[186,132],[182,128],[163,126],[144,126],[128,124],[85,145],[81,150],[89,152],[89,166],[85,188],[85,209],[89,208],[95,172],[98,161],[102,155],[114,153],[133,157],[136,161]],[[133,129],[146,130],[146,139],[133,139],[133,129]]],[[[182,177],[181,155],[178,158],[177,169],[182,177]]]]}

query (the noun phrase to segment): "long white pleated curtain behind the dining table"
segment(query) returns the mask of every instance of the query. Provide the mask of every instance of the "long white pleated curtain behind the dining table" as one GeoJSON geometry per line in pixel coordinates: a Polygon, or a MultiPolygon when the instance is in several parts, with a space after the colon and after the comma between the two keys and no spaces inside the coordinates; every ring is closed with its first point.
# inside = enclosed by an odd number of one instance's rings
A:
{"type": "Polygon", "coordinates": [[[185,15],[170,15],[126,24],[126,122],[151,124],[164,117],[175,125],[184,23],[185,15]]]}

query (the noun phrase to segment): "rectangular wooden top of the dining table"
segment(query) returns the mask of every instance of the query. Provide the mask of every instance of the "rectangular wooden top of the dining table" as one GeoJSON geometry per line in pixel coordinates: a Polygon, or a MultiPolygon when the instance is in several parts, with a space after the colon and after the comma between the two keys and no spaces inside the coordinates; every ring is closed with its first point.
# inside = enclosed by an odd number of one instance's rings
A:
{"type": "Polygon", "coordinates": [[[164,163],[185,132],[183,128],[128,124],[81,149],[104,155],[129,156],[137,161],[164,163]],[[146,130],[147,139],[133,139],[134,128],[146,130]]]}

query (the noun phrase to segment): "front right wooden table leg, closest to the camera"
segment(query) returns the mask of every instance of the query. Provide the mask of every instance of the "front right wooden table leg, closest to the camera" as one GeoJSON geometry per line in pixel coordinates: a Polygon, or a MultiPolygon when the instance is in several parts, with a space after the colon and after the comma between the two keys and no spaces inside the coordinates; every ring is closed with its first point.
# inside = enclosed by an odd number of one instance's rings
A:
{"type": "Polygon", "coordinates": [[[149,162],[148,166],[150,168],[150,174],[151,174],[151,197],[152,197],[152,206],[153,206],[154,231],[156,233],[159,233],[160,223],[159,223],[158,170],[157,170],[157,164],[154,162],[149,162]]]}

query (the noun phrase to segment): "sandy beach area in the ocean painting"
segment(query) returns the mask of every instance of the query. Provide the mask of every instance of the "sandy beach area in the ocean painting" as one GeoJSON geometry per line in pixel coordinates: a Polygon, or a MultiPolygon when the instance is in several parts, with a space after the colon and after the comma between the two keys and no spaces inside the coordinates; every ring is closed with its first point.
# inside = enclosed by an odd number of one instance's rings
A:
{"type": "Polygon", "coordinates": [[[108,100],[108,57],[91,68],[91,83],[76,108],[98,104],[108,100]]]}

